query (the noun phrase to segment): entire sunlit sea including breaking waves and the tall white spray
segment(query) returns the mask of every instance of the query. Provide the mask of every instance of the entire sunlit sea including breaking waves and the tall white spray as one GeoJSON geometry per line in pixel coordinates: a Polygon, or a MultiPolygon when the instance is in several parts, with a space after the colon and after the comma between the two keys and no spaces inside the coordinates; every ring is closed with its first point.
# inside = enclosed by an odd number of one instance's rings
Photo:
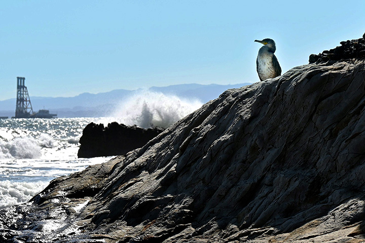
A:
{"type": "Polygon", "coordinates": [[[0,209],[26,203],[57,177],[113,158],[78,158],[89,123],[167,128],[201,106],[197,100],[141,92],[108,117],[0,119],[0,209]]]}

